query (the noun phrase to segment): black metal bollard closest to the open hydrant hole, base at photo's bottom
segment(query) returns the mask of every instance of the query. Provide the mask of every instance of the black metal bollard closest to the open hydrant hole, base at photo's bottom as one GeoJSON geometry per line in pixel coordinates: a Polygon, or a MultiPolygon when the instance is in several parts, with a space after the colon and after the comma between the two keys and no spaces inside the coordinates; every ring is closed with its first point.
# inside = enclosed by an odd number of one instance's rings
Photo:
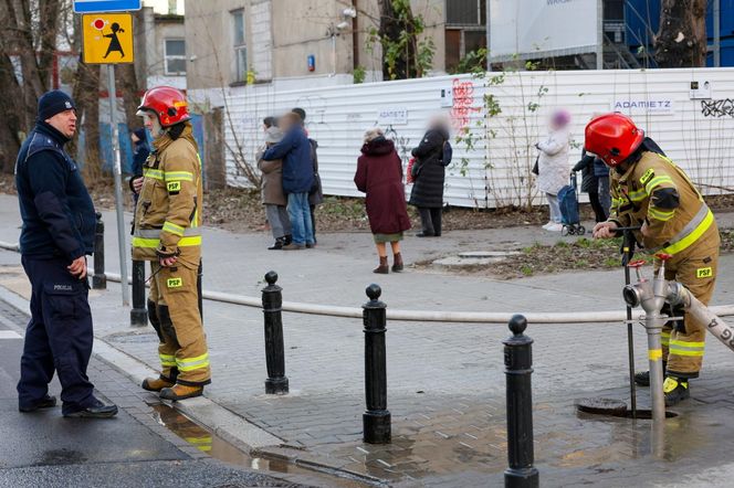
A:
{"type": "Polygon", "coordinates": [[[523,332],[527,320],[522,315],[510,319],[513,337],[502,341],[507,382],[506,488],[536,488],[538,471],[533,467],[533,339],[523,332]]]}

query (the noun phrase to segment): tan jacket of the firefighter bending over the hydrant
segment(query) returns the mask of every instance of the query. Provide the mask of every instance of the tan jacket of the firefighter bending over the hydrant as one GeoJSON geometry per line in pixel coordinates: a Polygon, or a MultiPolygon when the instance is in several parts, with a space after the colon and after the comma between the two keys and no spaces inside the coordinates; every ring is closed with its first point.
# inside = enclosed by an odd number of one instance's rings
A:
{"type": "Polygon", "coordinates": [[[667,157],[644,151],[623,174],[611,171],[610,176],[609,220],[619,226],[647,223],[648,236],[636,232],[636,237],[648,252],[677,255],[709,237],[717,238],[714,215],[703,197],[667,157]]]}

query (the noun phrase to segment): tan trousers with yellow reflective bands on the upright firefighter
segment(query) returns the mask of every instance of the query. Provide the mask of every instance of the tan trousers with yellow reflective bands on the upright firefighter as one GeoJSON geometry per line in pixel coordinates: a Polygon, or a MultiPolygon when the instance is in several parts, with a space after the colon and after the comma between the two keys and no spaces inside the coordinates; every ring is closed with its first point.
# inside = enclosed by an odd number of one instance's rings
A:
{"type": "MultiPolygon", "coordinates": [[[[176,381],[181,384],[208,384],[211,378],[209,351],[199,315],[197,269],[186,266],[164,267],[150,263],[156,273],[150,284],[150,300],[158,307],[166,307],[172,327],[166,330],[161,323],[164,342],[158,347],[161,374],[171,378],[176,370],[176,381]],[[158,269],[160,269],[158,272],[158,269]]],[[[164,314],[161,314],[164,315],[164,314]]],[[[160,317],[161,321],[168,317],[160,317]]]]}

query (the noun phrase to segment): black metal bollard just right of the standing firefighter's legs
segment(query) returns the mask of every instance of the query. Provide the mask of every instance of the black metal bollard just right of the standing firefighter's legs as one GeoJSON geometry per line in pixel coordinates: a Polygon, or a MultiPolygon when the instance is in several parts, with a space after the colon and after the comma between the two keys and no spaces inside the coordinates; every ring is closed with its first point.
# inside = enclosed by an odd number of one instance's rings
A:
{"type": "Polygon", "coordinates": [[[265,363],[268,379],[265,393],[285,395],[289,392],[289,379],[285,376],[285,351],[283,346],[283,295],[277,282],[277,273],[265,275],[268,286],[262,290],[262,311],[265,316],[265,363]]]}

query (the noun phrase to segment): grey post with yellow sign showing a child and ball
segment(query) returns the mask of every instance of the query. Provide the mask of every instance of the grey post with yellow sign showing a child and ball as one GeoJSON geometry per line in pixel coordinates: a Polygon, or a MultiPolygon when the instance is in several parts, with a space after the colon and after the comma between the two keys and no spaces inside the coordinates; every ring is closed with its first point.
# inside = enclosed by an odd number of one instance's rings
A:
{"type": "Polygon", "coordinates": [[[107,65],[107,94],[109,96],[109,127],[112,130],[113,177],[115,180],[115,211],[117,216],[117,241],[119,248],[119,274],[123,287],[123,306],[130,304],[127,285],[127,240],[125,237],[125,215],[123,212],[123,168],[119,155],[119,130],[117,127],[117,88],[115,86],[115,64],[133,63],[133,15],[108,13],[108,10],[136,10],[139,1],[75,1],[76,12],[95,12],[92,9],[106,9],[105,12],[82,17],[82,60],[85,64],[107,65]],[[137,6],[137,7],[135,7],[137,6]],[[80,10],[87,9],[87,10],[80,10]]]}

